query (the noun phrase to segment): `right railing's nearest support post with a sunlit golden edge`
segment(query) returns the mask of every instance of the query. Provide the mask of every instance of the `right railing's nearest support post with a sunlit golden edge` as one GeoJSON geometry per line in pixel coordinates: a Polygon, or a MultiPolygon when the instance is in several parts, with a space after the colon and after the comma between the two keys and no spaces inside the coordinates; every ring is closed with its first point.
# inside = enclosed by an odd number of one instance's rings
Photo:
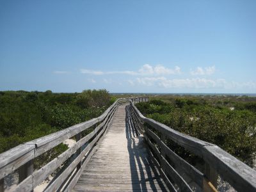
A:
{"type": "Polygon", "coordinates": [[[204,168],[206,178],[203,183],[203,191],[216,192],[218,173],[206,162],[204,168]]]}

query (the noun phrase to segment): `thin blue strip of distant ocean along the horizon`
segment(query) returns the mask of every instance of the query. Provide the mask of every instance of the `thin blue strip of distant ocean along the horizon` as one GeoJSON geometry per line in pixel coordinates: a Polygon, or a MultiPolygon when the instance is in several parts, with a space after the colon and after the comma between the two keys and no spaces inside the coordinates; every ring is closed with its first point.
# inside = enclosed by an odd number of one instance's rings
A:
{"type": "Polygon", "coordinates": [[[110,93],[112,95],[195,95],[195,96],[248,96],[256,97],[256,93],[110,93]]]}

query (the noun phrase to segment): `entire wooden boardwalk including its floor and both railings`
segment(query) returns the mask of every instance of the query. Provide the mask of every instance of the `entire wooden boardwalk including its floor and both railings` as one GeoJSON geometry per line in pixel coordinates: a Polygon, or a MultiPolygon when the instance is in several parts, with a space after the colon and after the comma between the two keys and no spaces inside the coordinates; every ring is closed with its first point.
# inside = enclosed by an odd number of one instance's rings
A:
{"type": "Polygon", "coordinates": [[[98,118],[19,145],[0,154],[0,191],[217,191],[217,179],[237,191],[256,191],[256,171],[220,147],[146,118],[134,106],[148,97],[118,99],[98,118]],[[76,138],[76,143],[35,170],[33,160],[76,138]],[[193,165],[172,146],[202,158],[193,165]],[[19,173],[19,184],[6,177],[19,173]]]}

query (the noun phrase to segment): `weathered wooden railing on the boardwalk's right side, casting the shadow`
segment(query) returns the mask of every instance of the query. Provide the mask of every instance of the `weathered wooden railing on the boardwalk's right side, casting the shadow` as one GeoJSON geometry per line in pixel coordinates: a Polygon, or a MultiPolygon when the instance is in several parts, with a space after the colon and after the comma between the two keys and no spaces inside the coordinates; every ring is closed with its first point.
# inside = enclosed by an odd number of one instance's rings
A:
{"type": "Polygon", "coordinates": [[[217,191],[218,175],[237,191],[256,191],[256,171],[231,156],[220,147],[198,140],[143,116],[130,101],[131,113],[138,129],[143,133],[148,151],[159,167],[171,191],[193,191],[189,183],[195,182],[202,191],[217,191]],[[168,147],[167,141],[189,150],[204,159],[204,171],[199,171],[168,147]],[[184,177],[186,175],[186,177],[184,177]],[[190,181],[188,180],[190,178],[190,181]]]}

